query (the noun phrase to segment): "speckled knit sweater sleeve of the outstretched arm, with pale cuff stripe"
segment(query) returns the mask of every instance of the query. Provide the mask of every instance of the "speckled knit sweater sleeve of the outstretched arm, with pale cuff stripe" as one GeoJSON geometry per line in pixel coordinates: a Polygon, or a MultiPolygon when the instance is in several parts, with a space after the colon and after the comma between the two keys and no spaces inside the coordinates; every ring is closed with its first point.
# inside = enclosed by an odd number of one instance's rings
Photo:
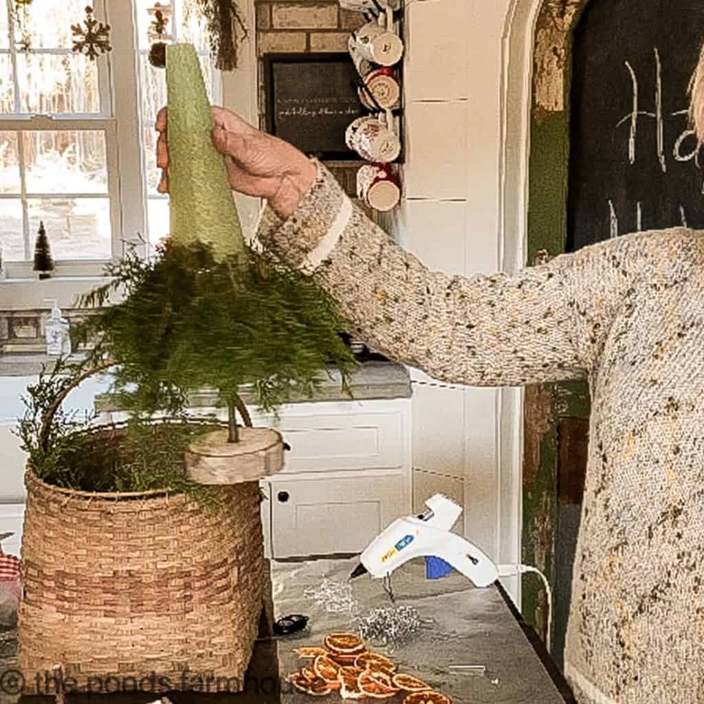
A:
{"type": "Polygon", "coordinates": [[[265,208],[257,237],[315,276],[347,332],[436,379],[472,386],[586,377],[639,268],[639,237],[625,235],[515,274],[433,272],[320,164],[296,212],[283,221],[265,208]]]}

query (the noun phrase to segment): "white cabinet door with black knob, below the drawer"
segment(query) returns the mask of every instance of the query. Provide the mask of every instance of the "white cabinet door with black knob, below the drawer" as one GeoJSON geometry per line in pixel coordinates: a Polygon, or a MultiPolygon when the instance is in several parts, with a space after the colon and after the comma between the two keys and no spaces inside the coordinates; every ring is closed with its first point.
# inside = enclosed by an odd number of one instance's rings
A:
{"type": "Polygon", "coordinates": [[[401,475],[272,481],[273,557],[360,553],[408,513],[404,482],[401,475]]]}

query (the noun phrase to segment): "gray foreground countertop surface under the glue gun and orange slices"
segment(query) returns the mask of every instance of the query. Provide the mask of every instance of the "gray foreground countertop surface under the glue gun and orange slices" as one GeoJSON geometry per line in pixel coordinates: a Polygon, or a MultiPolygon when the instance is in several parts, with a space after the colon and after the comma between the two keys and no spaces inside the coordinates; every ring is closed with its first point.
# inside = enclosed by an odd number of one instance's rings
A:
{"type": "MultiPolygon", "coordinates": [[[[173,704],[311,704],[315,701],[341,704],[332,693],[313,698],[291,691],[285,678],[301,667],[294,648],[322,645],[327,633],[354,628],[354,616],[364,616],[370,609],[388,606],[389,598],[381,582],[368,576],[353,581],[353,598],[358,605],[346,613],[330,614],[318,606],[305,591],[317,586],[323,577],[346,582],[356,559],[272,562],[271,598],[268,618],[302,613],[310,617],[308,628],[291,636],[272,637],[263,625],[260,639],[245,680],[244,693],[168,693],[173,704]],[[247,684],[249,681],[249,684],[247,684]],[[265,689],[265,682],[279,685],[276,691],[265,689]],[[260,688],[260,689],[259,689],[260,688]],[[265,693],[266,692],[266,693],[265,693]]],[[[422,630],[405,645],[372,648],[391,657],[399,672],[426,681],[449,696],[453,704],[565,704],[546,667],[529,643],[519,622],[496,586],[474,589],[470,582],[454,572],[444,579],[428,581],[422,560],[409,562],[394,574],[397,605],[412,605],[424,620],[422,630]],[[458,674],[448,670],[451,664],[484,665],[484,674],[458,674]]],[[[0,679],[13,667],[13,634],[0,633],[0,679]]],[[[68,704],[144,704],[157,699],[153,693],[114,693],[108,695],[73,694],[68,704]]],[[[50,696],[23,697],[22,701],[54,704],[50,696]]],[[[367,704],[374,700],[365,700],[367,704]]],[[[385,700],[402,704],[398,695],[385,700]]],[[[0,704],[16,704],[17,698],[3,696],[0,704]]]]}

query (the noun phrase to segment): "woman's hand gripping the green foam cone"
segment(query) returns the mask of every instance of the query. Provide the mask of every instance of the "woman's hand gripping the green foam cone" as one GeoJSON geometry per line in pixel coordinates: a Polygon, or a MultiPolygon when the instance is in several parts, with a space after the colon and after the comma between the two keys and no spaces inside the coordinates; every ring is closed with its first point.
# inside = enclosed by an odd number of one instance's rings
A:
{"type": "MultiPolygon", "coordinates": [[[[267,199],[281,218],[292,215],[315,181],[315,163],[288,142],[256,130],[225,108],[213,107],[213,118],[213,144],[225,155],[230,187],[267,199]]],[[[167,125],[166,108],[161,108],[156,118],[156,165],[162,170],[160,193],[168,192],[167,125]]]]}

